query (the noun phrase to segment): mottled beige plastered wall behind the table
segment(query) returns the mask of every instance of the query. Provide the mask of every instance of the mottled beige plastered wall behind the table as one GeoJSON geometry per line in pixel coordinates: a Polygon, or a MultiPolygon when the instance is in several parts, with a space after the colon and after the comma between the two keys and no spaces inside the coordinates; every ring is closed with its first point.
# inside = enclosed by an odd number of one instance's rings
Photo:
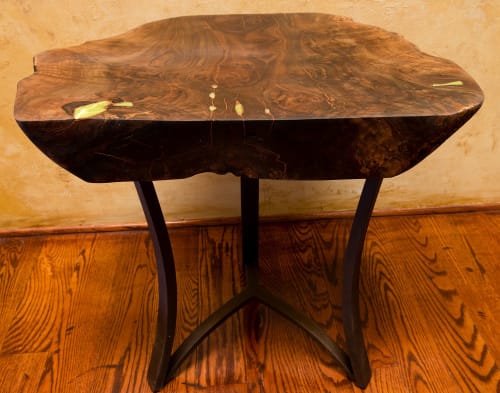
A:
{"type": "MultiPolygon", "coordinates": [[[[58,168],[12,118],[16,83],[34,54],[81,43],[155,19],[241,12],[310,11],[346,15],[403,34],[452,59],[482,86],[481,111],[413,170],[383,186],[378,208],[500,201],[499,0],[0,0],[0,228],[130,223],[143,220],[130,184],[86,184],[58,168]]],[[[359,181],[263,182],[262,213],[352,209],[359,181]]],[[[235,216],[238,182],[198,175],[162,182],[168,219],[235,216]]]]}

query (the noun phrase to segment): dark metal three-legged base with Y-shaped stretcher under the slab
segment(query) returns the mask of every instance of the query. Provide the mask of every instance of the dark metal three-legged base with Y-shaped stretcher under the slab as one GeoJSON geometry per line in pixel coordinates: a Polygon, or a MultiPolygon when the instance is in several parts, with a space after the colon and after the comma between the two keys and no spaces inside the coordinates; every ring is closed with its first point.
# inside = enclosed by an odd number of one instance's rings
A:
{"type": "Polygon", "coordinates": [[[259,180],[242,177],[242,257],[247,275],[247,288],[210,315],[172,353],[177,316],[177,283],[172,246],[153,183],[135,182],[148,222],[158,268],[158,322],[148,369],[151,389],[154,392],[160,391],[201,340],[252,300],[269,306],[304,329],[333,356],[357,386],[366,387],[371,377],[371,370],[359,315],[359,272],[365,235],[381,184],[382,179],[379,178],[366,180],[344,256],[342,312],[346,351],[342,350],[316,322],[259,285],[257,279],[259,180]]]}

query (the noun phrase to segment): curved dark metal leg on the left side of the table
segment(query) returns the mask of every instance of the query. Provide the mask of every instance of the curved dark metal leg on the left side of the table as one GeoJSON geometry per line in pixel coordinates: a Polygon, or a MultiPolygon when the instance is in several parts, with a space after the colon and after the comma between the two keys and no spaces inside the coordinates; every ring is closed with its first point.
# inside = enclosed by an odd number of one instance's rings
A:
{"type": "Polygon", "coordinates": [[[177,318],[177,281],[172,246],[152,182],[135,182],[148,222],[158,269],[158,321],[148,383],[158,392],[167,383],[177,318]]]}

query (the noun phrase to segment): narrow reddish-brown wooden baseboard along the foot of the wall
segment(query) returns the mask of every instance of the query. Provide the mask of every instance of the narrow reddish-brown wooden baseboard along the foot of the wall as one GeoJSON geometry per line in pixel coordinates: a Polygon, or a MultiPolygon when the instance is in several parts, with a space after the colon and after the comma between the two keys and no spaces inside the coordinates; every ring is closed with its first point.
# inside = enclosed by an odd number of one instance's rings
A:
{"type": "MultiPolygon", "coordinates": [[[[432,214],[463,214],[489,212],[500,214],[500,202],[488,204],[473,204],[460,206],[436,206],[424,208],[406,208],[406,209],[375,209],[373,217],[389,216],[417,216],[432,214]]],[[[353,210],[322,212],[314,214],[299,214],[292,216],[263,216],[260,218],[262,223],[278,222],[296,222],[312,220],[334,220],[354,217],[353,210]]],[[[193,220],[167,221],[169,228],[194,227],[194,226],[215,226],[238,224],[239,217],[221,217],[193,220]]],[[[0,229],[0,238],[2,237],[21,237],[21,236],[49,236],[64,235],[74,233],[97,233],[97,232],[122,232],[122,231],[145,231],[147,225],[145,222],[130,224],[103,224],[103,225],[77,225],[77,226],[57,226],[57,227],[32,227],[19,229],[0,229]]]]}

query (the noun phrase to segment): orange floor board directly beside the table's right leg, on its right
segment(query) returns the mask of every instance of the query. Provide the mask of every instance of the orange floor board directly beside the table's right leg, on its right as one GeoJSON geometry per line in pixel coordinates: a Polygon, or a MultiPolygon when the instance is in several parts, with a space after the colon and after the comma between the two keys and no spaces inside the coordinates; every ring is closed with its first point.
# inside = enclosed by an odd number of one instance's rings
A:
{"type": "MultiPolygon", "coordinates": [[[[406,266],[411,261],[408,261],[407,254],[415,251],[403,240],[389,244],[379,241],[373,236],[379,230],[388,230],[390,236],[398,236],[392,225],[382,229],[380,224],[383,223],[377,223],[370,232],[362,275],[362,288],[371,311],[368,316],[375,320],[373,325],[377,326],[376,336],[370,329],[365,333],[369,348],[381,348],[370,343],[373,337],[382,337],[383,344],[387,346],[384,353],[394,359],[389,363],[390,369],[401,364],[400,359],[405,359],[406,378],[400,379],[401,391],[454,392],[453,380],[442,372],[445,364],[439,357],[439,350],[429,339],[434,333],[425,323],[425,311],[421,310],[408,280],[411,276],[406,266]],[[394,249],[396,244],[401,248],[394,249]]],[[[373,367],[384,368],[383,362],[374,361],[377,358],[373,352],[369,351],[373,367]]],[[[386,355],[383,359],[387,358],[386,355]]]]}

